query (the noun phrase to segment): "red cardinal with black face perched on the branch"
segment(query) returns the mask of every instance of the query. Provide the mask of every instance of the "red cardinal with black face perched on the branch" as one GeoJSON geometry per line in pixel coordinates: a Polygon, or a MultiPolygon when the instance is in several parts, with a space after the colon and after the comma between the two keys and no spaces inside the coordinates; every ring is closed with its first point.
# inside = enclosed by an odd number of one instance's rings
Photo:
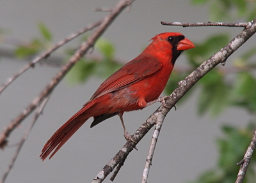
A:
{"type": "Polygon", "coordinates": [[[163,92],[177,57],[184,50],[195,48],[180,33],[157,34],[151,40],[152,43],[138,57],[103,82],[83,108],[52,135],[42,149],[40,157],[43,161],[54,150],[51,159],[90,117],[93,117],[92,128],[118,115],[125,138],[134,142],[125,129],[123,113],[143,109],[155,101],[163,92]]]}

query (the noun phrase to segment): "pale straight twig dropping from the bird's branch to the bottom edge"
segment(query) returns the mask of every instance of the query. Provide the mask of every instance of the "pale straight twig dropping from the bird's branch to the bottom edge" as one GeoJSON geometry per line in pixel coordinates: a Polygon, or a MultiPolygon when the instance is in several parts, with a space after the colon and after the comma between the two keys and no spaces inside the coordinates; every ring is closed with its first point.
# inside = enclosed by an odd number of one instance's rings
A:
{"type": "Polygon", "coordinates": [[[150,146],[149,146],[148,156],[147,156],[147,159],[146,159],[145,168],[143,170],[141,183],[146,183],[147,182],[149,169],[150,169],[150,166],[152,165],[152,159],[153,159],[153,156],[154,156],[154,151],[156,149],[157,139],[159,137],[161,127],[163,126],[164,117],[165,117],[165,115],[158,115],[157,116],[156,126],[155,126],[155,129],[154,129],[154,133],[153,133],[153,136],[152,136],[152,139],[151,139],[150,146]]]}

